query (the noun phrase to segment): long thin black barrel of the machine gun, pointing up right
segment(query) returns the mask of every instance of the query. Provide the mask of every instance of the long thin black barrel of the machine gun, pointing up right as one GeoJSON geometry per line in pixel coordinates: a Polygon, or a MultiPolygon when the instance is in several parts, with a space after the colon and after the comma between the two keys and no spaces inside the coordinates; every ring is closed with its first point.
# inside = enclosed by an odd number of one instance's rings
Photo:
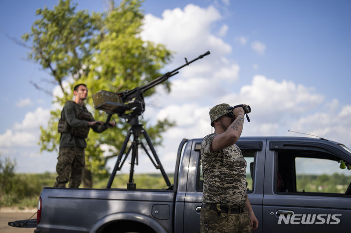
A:
{"type": "Polygon", "coordinates": [[[178,73],[178,70],[182,69],[184,66],[189,66],[191,63],[195,62],[198,59],[203,58],[204,56],[206,56],[208,54],[210,54],[210,51],[207,51],[206,53],[199,55],[198,57],[196,57],[195,59],[193,59],[189,62],[188,62],[187,58],[185,58],[185,64],[176,68],[175,70],[163,74],[162,76],[152,80],[151,82],[145,84],[144,86],[137,87],[133,90],[122,91],[120,93],[117,93],[117,95],[122,98],[123,102],[127,102],[127,101],[137,97],[140,93],[144,93],[145,91],[147,91],[147,90],[155,87],[156,85],[166,81],[169,77],[176,75],[178,73]]]}

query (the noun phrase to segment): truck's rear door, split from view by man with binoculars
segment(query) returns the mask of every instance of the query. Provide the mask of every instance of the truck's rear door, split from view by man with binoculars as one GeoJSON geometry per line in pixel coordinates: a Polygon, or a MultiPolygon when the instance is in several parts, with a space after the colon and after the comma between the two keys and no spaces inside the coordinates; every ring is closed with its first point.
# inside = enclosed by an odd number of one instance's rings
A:
{"type": "MultiPolygon", "coordinates": [[[[261,222],[263,201],[263,172],[265,142],[242,139],[236,143],[247,161],[246,177],[248,196],[257,219],[261,222]]],[[[188,167],[188,181],[184,203],[183,232],[197,233],[200,230],[200,210],[202,204],[202,167],[200,158],[201,141],[194,141],[188,167]]],[[[262,232],[261,228],[255,232],[262,232]]]]}

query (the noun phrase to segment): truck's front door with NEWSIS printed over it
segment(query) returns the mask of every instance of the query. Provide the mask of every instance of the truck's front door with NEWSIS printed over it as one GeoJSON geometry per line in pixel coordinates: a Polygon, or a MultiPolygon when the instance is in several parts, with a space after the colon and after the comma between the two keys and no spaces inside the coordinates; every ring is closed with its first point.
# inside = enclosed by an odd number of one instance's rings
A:
{"type": "Polygon", "coordinates": [[[350,232],[350,153],[316,141],[267,144],[263,232],[350,232]]]}

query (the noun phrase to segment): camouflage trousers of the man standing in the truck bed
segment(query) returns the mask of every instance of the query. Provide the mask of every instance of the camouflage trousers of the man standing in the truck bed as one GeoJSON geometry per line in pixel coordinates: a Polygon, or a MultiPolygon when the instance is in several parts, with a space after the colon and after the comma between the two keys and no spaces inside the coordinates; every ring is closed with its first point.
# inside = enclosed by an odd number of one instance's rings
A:
{"type": "Polygon", "coordinates": [[[66,187],[69,181],[70,188],[78,188],[85,165],[84,148],[60,147],[56,172],[58,176],[54,187],[66,187]]]}

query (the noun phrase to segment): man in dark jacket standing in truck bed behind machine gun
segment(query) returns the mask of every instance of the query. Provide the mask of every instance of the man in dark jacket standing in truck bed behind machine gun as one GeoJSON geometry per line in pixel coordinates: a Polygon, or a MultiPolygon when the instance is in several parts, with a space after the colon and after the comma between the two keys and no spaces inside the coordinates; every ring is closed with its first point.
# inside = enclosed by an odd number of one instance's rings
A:
{"type": "MultiPolygon", "coordinates": [[[[61,133],[59,143],[59,157],[56,165],[58,176],[54,187],[66,187],[69,181],[70,188],[78,188],[82,180],[85,165],[85,139],[89,129],[101,133],[109,126],[102,121],[95,121],[93,115],[85,108],[84,100],[88,89],[85,84],[74,87],[74,101],[67,101],[61,111],[58,131],[61,133]]],[[[110,122],[115,127],[115,122],[110,122]]]]}

